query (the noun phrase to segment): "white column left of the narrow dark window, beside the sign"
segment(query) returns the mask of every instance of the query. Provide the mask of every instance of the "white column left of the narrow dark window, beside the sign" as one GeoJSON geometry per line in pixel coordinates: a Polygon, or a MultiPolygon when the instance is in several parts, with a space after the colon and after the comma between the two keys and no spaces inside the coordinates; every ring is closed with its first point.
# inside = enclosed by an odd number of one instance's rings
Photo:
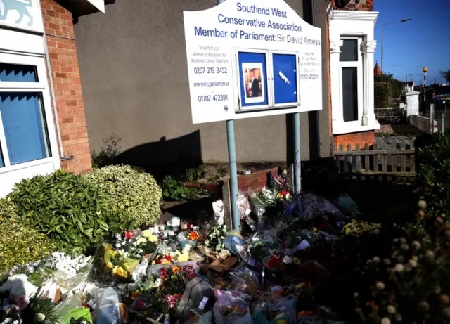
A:
{"type": "Polygon", "coordinates": [[[330,84],[331,84],[331,118],[333,125],[338,125],[344,122],[344,114],[342,114],[340,105],[340,84],[341,72],[339,68],[340,47],[344,41],[338,39],[330,41],[330,84]]]}

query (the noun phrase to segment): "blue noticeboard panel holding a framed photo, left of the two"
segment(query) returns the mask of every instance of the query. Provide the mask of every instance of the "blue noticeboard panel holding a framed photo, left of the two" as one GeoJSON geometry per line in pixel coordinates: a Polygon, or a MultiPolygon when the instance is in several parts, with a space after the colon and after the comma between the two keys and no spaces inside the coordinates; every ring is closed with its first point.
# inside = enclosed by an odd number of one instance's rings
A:
{"type": "Polygon", "coordinates": [[[266,53],[238,52],[243,107],[268,105],[266,53]]]}

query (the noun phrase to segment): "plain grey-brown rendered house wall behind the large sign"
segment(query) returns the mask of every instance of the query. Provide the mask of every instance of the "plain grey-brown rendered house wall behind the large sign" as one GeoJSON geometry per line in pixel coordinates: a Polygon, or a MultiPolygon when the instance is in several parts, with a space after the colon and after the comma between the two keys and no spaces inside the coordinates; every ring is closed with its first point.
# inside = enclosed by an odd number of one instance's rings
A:
{"type": "MultiPolygon", "coordinates": [[[[305,21],[321,27],[322,104],[300,114],[302,160],[331,155],[327,1],[287,0],[305,21]]],[[[183,11],[207,1],[117,1],[105,15],[75,25],[91,147],[116,134],[118,161],[150,172],[195,162],[228,162],[226,123],[192,124],[183,11]]],[[[285,162],[293,157],[291,115],[235,121],[238,162],[285,162]]],[[[291,160],[291,162],[293,162],[291,160]]]]}

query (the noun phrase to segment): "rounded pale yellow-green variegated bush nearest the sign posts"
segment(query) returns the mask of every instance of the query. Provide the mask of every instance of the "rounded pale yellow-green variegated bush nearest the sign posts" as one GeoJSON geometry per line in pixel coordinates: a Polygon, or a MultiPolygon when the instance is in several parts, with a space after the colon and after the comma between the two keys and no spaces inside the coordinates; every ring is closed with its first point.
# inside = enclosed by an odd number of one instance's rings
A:
{"type": "Polygon", "coordinates": [[[148,226],[160,217],[162,192],[150,174],[129,166],[110,166],[91,171],[86,180],[110,200],[117,231],[148,226]]]}

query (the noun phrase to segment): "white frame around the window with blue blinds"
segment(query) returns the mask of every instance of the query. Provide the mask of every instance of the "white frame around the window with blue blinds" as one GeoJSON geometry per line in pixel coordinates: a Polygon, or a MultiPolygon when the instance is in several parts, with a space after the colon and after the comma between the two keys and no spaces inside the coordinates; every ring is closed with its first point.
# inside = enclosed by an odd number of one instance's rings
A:
{"type": "MultiPolygon", "coordinates": [[[[6,136],[4,132],[3,122],[0,115],[0,145],[3,157],[4,167],[0,167],[0,178],[2,174],[20,169],[28,169],[41,164],[53,163],[54,169],[60,168],[60,160],[58,153],[58,145],[56,141],[56,131],[53,122],[53,112],[51,111],[51,101],[49,93],[49,82],[46,73],[46,65],[44,56],[39,55],[23,55],[0,51],[0,63],[8,63],[13,65],[32,65],[36,67],[38,82],[2,82],[0,80],[0,93],[2,92],[32,92],[39,93],[41,96],[41,104],[44,105],[46,132],[48,136],[48,149],[50,156],[43,159],[23,162],[11,165],[6,146],[6,136]]],[[[1,182],[1,181],[0,181],[1,182]]]]}

